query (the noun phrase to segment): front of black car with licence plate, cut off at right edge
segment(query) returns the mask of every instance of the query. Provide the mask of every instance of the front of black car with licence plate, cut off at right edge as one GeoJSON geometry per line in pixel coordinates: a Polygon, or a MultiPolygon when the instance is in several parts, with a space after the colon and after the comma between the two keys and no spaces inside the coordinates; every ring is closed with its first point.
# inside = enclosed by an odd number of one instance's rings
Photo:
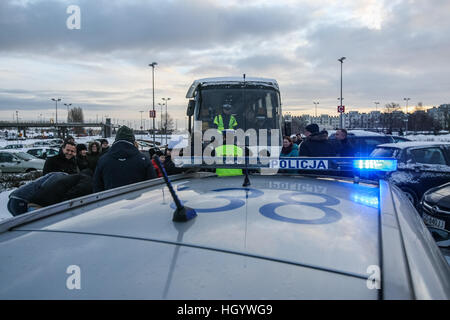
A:
{"type": "Polygon", "coordinates": [[[450,183],[428,190],[423,195],[420,209],[422,219],[436,241],[449,240],[450,183]]]}

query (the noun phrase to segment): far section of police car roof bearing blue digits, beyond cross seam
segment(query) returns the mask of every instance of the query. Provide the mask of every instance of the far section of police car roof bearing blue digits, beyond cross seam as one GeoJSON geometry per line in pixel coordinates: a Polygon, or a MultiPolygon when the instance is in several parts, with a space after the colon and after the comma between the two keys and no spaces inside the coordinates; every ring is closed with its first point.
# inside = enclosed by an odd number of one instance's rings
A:
{"type": "Polygon", "coordinates": [[[166,186],[135,191],[15,230],[70,232],[183,243],[366,277],[379,264],[378,187],[306,177],[252,176],[174,183],[197,210],[174,223],[166,186]]]}

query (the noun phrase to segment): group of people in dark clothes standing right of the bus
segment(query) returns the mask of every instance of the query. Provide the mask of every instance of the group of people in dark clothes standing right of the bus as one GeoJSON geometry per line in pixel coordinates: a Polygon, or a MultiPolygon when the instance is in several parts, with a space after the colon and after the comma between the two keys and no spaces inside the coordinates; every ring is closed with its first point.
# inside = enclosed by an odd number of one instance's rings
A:
{"type": "Polygon", "coordinates": [[[306,126],[305,138],[297,134],[283,137],[280,157],[353,157],[355,150],[347,138],[347,130],[336,130],[336,140],[328,140],[328,132],[315,123],[306,126]]]}

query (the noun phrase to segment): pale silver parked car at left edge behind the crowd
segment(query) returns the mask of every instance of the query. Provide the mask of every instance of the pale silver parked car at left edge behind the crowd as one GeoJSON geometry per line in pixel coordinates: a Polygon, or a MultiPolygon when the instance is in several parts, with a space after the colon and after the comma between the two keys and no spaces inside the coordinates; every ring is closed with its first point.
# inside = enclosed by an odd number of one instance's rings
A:
{"type": "Polygon", "coordinates": [[[0,151],[2,173],[20,173],[42,170],[45,161],[23,151],[0,151]]]}

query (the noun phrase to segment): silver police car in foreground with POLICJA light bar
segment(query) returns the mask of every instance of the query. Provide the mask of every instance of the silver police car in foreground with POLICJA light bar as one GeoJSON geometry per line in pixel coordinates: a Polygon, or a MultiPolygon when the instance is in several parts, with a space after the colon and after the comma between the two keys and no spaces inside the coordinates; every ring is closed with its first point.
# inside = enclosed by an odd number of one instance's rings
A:
{"type": "MultiPolygon", "coordinates": [[[[352,163],[395,170],[385,160],[352,163]]],[[[333,161],[267,166],[330,170],[333,161]]],[[[0,223],[0,299],[450,298],[449,265],[387,180],[201,171],[165,179],[0,223]]]]}

